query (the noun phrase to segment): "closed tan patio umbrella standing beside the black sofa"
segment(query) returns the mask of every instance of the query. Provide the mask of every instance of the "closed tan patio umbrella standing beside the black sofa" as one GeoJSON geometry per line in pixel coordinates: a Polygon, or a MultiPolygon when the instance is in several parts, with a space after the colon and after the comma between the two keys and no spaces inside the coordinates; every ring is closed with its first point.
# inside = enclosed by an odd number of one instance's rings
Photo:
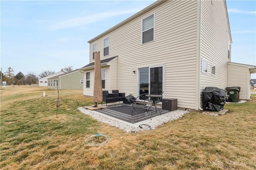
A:
{"type": "Polygon", "coordinates": [[[94,107],[97,107],[97,102],[102,102],[102,80],[100,66],[100,51],[94,52],[94,89],[93,89],[94,107]]]}

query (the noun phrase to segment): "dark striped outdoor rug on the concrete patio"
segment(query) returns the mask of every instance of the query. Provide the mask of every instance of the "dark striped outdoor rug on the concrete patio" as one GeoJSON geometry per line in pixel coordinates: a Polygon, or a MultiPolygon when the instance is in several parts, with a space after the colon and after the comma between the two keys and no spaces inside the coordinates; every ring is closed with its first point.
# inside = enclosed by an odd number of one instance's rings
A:
{"type": "Polygon", "coordinates": [[[136,110],[137,115],[133,112],[132,115],[132,105],[128,104],[118,104],[118,105],[112,105],[105,109],[96,110],[100,113],[104,113],[106,115],[110,115],[112,117],[116,117],[118,119],[128,121],[130,123],[136,123],[142,120],[149,119],[151,117],[164,114],[167,112],[170,112],[168,110],[161,109],[161,113],[159,110],[151,109],[149,111],[145,111],[143,109],[136,110]]]}

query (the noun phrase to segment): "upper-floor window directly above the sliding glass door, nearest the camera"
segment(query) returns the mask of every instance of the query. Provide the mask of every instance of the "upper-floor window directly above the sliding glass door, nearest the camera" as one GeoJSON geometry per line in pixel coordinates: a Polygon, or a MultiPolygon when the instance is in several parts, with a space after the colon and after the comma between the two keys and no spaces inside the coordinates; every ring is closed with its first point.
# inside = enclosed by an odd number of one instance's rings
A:
{"type": "Polygon", "coordinates": [[[154,41],[154,14],[142,20],[142,44],[154,41]]]}

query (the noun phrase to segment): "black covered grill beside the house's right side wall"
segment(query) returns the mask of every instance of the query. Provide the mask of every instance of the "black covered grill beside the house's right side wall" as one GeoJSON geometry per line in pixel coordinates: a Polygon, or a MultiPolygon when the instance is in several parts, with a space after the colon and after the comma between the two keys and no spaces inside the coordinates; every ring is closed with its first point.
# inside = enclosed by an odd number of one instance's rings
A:
{"type": "Polygon", "coordinates": [[[224,90],[217,87],[206,87],[203,90],[203,109],[220,111],[225,103],[224,90]]]}

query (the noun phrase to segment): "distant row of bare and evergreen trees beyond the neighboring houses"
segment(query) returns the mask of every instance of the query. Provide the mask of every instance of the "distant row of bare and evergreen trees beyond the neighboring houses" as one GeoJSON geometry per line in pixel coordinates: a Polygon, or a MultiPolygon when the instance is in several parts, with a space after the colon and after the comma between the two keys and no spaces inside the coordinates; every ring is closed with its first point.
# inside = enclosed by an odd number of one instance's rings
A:
{"type": "MultiPolygon", "coordinates": [[[[73,66],[67,66],[61,69],[61,71],[63,72],[70,72],[72,70],[73,70],[73,66]]],[[[0,74],[2,76],[2,82],[6,82],[6,84],[8,85],[38,84],[39,78],[44,78],[54,73],[55,73],[54,71],[46,70],[46,71],[42,71],[41,74],[39,74],[38,76],[36,76],[36,74],[33,72],[28,72],[28,74],[26,75],[24,75],[22,72],[18,72],[15,75],[14,70],[11,67],[8,67],[7,71],[4,73],[2,72],[2,69],[0,71],[0,74]]]]}

